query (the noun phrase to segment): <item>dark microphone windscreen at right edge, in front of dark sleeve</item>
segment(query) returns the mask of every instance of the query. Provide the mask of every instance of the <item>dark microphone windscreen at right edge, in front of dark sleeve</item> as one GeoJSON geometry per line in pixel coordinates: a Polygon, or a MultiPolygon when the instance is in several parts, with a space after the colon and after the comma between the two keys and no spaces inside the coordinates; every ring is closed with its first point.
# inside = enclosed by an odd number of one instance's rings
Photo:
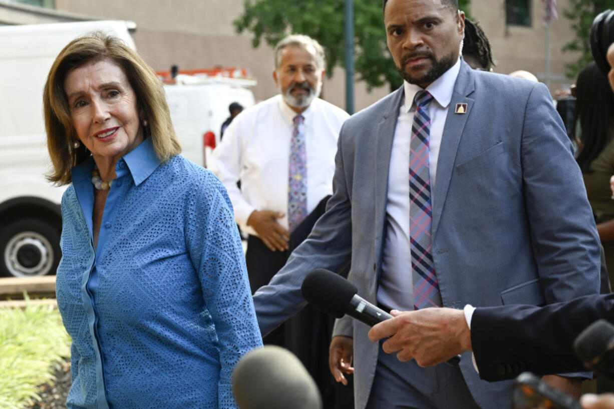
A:
{"type": "Polygon", "coordinates": [[[594,369],[614,348],[614,325],[599,319],[586,327],[573,341],[573,349],[586,368],[594,369]]]}

